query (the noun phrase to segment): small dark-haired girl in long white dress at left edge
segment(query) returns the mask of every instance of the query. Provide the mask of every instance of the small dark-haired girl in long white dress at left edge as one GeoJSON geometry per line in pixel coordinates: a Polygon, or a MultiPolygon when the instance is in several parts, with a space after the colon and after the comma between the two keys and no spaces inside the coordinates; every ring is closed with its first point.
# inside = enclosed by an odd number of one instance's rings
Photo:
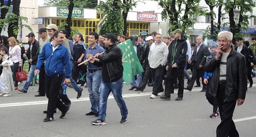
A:
{"type": "Polygon", "coordinates": [[[13,62],[8,57],[8,49],[6,47],[0,48],[0,54],[3,56],[3,62],[2,66],[3,72],[0,76],[0,90],[2,93],[0,96],[3,97],[9,97],[10,91],[14,91],[14,84],[13,84],[13,78],[12,78],[12,70],[11,66],[13,65],[13,62]]]}

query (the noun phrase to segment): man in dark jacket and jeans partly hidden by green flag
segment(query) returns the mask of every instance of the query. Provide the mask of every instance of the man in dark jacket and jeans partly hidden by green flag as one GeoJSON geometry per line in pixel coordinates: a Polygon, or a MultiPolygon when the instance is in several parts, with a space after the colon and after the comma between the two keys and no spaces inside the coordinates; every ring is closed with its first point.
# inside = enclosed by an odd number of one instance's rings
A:
{"type": "MultiPolygon", "coordinates": [[[[145,53],[145,48],[144,46],[142,46],[140,44],[140,42],[138,42],[138,36],[134,36],[132,37],[132,42],[133,42],[133,47],[134,47],[134,50],[137,54],[137,57],[140,61],[140,64],[141,66],[143,65],[143,62],[144,62],[144,53],[145,53]]],[[[137,84],[136,84],[136,79],[135,79],[135,76],[133,76],[132,80],[131,80],[131,88],[129,90],[133,90],[135,89],[136,87],[140,87],[140,84],[141,84],[141,81],[142,81],[142,72],[137,74],[137,84]]]]}

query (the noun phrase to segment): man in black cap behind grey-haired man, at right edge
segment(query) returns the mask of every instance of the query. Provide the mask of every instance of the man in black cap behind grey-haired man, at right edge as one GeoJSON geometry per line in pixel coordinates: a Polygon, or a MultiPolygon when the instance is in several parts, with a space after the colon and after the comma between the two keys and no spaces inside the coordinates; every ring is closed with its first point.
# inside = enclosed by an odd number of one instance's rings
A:
{"type": "Polygon", "coordinates": [[[234,48],[234,50],[236,50],[237,52],[243,54],[245,56],[245,59],[246,59],[246,66],[247,66],[247,77],[248,77],[248,80],[250,82],[250,86],[249,88],[252,87],[252,84],[253,84],[253,81],[252,81],[252,77],[251,77],[251,67],[254,66],[253,64],[253,54],[252,54],[252,51],[249,50],[248,47],[246,47],[244,44],[243,44],[243,38],[242,37],[238,37],[236,39],[236,43],[237,43],[237,46],[234,48]]]}

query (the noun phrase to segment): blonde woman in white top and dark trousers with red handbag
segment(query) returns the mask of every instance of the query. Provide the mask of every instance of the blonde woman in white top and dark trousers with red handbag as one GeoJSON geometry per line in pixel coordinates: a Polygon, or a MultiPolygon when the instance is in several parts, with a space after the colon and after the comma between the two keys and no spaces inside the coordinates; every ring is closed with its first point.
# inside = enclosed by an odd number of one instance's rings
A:
{"type": "Polygon", "coordinates": [[[18,72],[18,68],[22,67],[22,58],[21,57],[21,51],[20,47],[17,45],[16,39],[14,37],[10,37],[8,39],[9,41],[9,57],[13,62],[12,72],[13,72],[13,81],[14,81],[14,89],[18,89],[18,82],[16,80],[16,73],[18,72]]]}

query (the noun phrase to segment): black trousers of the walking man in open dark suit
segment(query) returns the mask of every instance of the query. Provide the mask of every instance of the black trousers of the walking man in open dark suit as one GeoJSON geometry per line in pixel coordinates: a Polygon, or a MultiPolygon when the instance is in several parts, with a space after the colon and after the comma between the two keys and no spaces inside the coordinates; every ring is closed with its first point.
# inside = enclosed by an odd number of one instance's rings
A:
{"type": "MultiPolygon", "coordinates": [[[[204,77],[204,69],[197,69],[197,67],[194,66],[193,72],[192,72],[192,77],[187,85],[188,90],[193,89],[194,83],[199,76],[202,78],[202,80],[204,79],[203,78],[204,77]]],[[[203,83],[203,81],[202,81],[202,84],[203,84],[203,89],[206,89],[206,85],[203,83]]]]}

